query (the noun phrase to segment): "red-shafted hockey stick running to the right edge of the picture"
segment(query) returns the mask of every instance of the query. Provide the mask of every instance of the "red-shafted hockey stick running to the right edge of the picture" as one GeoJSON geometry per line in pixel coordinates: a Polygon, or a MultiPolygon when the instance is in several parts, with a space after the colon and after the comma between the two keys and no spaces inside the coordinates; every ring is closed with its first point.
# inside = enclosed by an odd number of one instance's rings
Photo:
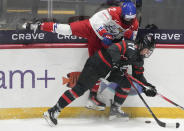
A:
{"type": "MultiPolygon", "coordinates": [[[[143,84],[142,82],[140,82],[139,80],[137,80],[136,78],[134,78],[133,76],[128,75],[128,77],[130,77],[133,81],[137,82],[139,85],[141,85],[142,87],[145,88],[146,85],[143,84]]],[[[175,105],[176,107],[178,107],[178,108],[184,110],[184,107],[182,107],[182,106],[176,104],[175,102],[171,101],[170,99],[168,99],[167,97],[163,96],[162,94],[157,93],[157,95],[160,96],[162,99],[166,100],[167,102],[169,102],[169,103],[175,105]]]]}

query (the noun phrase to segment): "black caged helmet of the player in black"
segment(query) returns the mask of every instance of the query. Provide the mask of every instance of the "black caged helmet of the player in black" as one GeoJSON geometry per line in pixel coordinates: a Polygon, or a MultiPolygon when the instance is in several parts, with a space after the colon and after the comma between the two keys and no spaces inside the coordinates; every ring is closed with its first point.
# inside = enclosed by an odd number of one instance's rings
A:
{"type": "Polygon", "coordinates": [[[149,53],[145,57],[149,57],[153,50],[155,49],[155,40],[153,34],[147,34],[144,36],[143,40],[139,43],[138,49],[141,51],[143,49],[149,49],[149,53]]]}

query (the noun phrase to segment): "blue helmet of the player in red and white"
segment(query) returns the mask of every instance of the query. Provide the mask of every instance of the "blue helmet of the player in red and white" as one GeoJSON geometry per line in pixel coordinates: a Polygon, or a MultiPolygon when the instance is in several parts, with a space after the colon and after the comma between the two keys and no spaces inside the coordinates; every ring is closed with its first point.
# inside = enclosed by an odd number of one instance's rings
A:
{"type": "Polygon", "coordinates": [[[122,9],[122,19],[125,22],[128,22],[131,24],[133,19],[136,17],[136,7],[135,4],[131,1],[124,2],[121,6],[122,9]]]}

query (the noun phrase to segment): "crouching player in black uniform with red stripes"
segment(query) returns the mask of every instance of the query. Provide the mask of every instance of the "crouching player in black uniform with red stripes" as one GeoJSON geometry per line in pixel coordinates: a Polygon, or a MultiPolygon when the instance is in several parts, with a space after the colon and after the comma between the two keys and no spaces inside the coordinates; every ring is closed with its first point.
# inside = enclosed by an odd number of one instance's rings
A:
{"type": "Polygon", "coordinates": [[[125,65],[133,66],[133,76],[150,86],[150,89],[143,89],[147,96],[155,96],[157,91],[155,87],[149,84],[143,75],[144,57],[151,55],[154,49],[153,36],[146,35],[137,47],[129,40],[122,40],[119,43],[111,45],[108,49],[101,49],[93,56],[89,57],[80,76],[76,86],[67,90],[59,98],[56,105],[44,112],[44,118],[50,126],[57,125],[57,118],[67,105],[69,105],[76,98],[82,96],[88,89],[92,88],[95,82],[106,77],[111,71],[108,78],[109,81],[116,82],[119,86],[116,88],[114,102],[111,105],[109,119],[115,117],[122,117],[128,119],[129,116],[121,110],[121,105],[128,96],[131,85],[127,77],[124,75],[126,70],[121,69],[125,65]]]}

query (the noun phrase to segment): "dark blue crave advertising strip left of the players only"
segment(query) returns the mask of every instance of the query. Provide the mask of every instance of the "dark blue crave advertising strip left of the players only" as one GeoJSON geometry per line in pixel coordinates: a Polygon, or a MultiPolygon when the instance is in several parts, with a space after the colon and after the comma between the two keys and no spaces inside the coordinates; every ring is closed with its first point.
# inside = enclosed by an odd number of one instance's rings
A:
{"type": "Polygon", "coordinates": [[[50,32],[33,32],[26,30],[1,30],[0,44],[31,44],[31,43],[86,43],[87,40],[76,36],[63,36],[50,32]]]}

